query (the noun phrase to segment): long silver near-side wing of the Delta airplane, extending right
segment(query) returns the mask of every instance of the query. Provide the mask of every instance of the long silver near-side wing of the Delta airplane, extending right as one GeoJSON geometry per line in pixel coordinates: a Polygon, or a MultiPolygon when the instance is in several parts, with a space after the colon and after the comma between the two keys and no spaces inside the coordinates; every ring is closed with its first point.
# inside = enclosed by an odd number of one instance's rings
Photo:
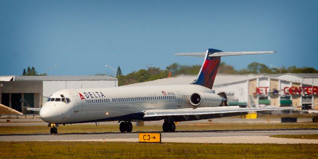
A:
{"type": "Polygon", "coordinates": [[[222,107],[201,107],[201,108],[184,108],[184,109],[149,109],[144,110],[144,118],[163,117],[163,116],[184,116],[184,115],[212,115],[226,113],[240,113],[249,111],[266,111],[266,110],[292,110],[294,107],[259,107],[259,108],[240,108],[239,106],[222,106],[222,107]]]}

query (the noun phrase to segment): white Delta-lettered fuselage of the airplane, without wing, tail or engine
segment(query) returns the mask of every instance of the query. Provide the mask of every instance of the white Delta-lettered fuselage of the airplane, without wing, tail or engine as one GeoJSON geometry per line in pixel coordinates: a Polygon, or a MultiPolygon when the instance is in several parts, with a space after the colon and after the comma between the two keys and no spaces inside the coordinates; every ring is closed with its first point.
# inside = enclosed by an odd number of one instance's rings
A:
{"type": "Polygon", "coordinates": [[[59,124],[142,120],[143,110],[193,108],[189,97],[195,92],[212,90],[195,84],[64,89],[49,97],[40,117],[59,124]]]}

